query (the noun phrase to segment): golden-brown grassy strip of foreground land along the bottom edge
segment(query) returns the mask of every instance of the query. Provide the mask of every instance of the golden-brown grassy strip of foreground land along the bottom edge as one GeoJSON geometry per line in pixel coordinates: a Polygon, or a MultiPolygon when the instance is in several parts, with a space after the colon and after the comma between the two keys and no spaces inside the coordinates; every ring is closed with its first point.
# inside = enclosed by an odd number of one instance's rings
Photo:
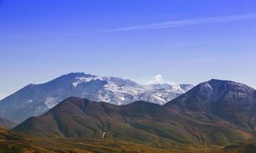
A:
{"type": "Polygon", "coordinates": [[[3,153],[253,153],[255,151],[256,145],[254,143],[229,145],[224,148],[193,148],[175,145],[162,148],[161,146],[152,146],[150,143],[132,143],[109,138],[39,138],[0,129],[0,152],[3,153]]]}

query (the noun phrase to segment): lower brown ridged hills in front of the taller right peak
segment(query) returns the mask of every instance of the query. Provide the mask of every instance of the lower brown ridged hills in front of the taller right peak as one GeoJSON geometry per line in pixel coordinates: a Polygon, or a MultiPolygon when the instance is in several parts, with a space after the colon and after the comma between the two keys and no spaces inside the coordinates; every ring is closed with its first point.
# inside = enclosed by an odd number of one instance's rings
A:
{"type": "MultiPolygon", "coordinates": [[[[214,117],[214,116],[213,116],[214,117]]],[[[215,117],[216,118],[216,117],[215,117]]],[[[200,121],[175,107],[136,102],[128,106],[71,98],[15,130],[40,137],[105,138],[146,142],[156,147],[229,145],[251,138],[221,119],[200,121]]]]}

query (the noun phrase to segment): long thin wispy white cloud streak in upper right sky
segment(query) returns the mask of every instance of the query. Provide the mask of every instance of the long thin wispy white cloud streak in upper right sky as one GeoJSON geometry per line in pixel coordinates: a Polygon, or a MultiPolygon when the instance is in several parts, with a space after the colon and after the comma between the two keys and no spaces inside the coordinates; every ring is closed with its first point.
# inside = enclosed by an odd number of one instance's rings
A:
{"type": "Polygon", "coordinates": [[[114,32],[114,31],[137,31],[137,30],[155,30],[155,29],[164,29],[164,28],[175,28],[187,25],[194,24],[214,24],[221,22],[229,22],[229,21],[241,21],[247,19],[256,18],[256,14],[246,14],[246,15],[228,15],[228,16],[220,16],[214,18],[197,18],[191,20],[179,20],[179,21],[165,21],[154,24],[142,24],[131,27],[123,27],[123,28],[113,28],[107,29],[101,32],[114,32]]]}

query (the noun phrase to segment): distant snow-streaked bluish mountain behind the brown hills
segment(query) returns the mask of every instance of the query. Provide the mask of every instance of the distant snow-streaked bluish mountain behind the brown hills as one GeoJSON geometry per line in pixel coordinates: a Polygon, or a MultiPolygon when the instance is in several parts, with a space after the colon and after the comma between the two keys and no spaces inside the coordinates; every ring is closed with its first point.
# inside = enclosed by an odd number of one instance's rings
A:
{"type": "Polygon", "coordinates": [[[69,73],[48,83],[30,84],[0,101],[0,116],[22,122],[42,115],[70,96],[125,105],[136,100],[165,104],[193,87],[190,84],[140,85],[118,77],[69,73]]]}

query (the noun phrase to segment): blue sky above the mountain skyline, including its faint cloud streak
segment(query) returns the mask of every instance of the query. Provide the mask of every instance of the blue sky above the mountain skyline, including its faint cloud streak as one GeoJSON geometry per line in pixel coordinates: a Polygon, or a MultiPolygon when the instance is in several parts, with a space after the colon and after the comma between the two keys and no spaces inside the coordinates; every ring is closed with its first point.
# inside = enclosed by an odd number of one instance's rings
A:
{"type": "Polygon", "coordinates": [[[254,0],[0,0],[0,99],[65,73],[256,88],[254,0]]]}

